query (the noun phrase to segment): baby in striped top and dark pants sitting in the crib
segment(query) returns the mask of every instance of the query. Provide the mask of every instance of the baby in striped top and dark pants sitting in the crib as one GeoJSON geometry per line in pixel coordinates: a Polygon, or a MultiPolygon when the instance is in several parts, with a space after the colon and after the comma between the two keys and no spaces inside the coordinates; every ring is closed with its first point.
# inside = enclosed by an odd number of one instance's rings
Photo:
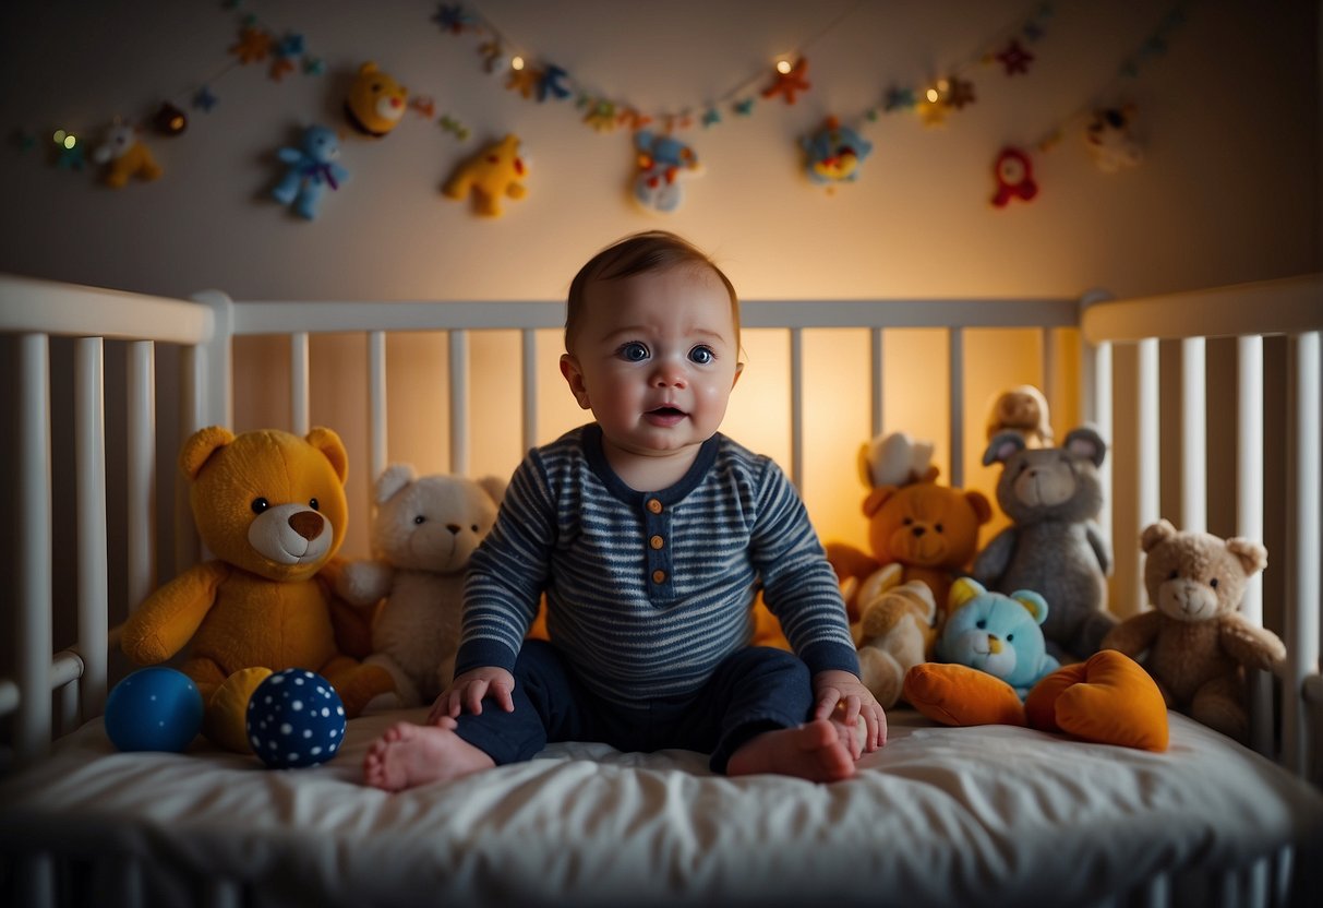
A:
{"type": "Polygon", "coordinates": [[[570,285],[565,351],[593,422],[515,470],[470,563],[455,679],[429,724],[370,745],[364,781],[400,790],[572,740],[849,777],[886,719],[794,486],[717,431],[744,368],[730,281],[675,234],[626,237],[570,285]],[[749,646],[759,588],[792,654],[749,646]],[[525,641],[544,593],[550,641],[525,641]]]}

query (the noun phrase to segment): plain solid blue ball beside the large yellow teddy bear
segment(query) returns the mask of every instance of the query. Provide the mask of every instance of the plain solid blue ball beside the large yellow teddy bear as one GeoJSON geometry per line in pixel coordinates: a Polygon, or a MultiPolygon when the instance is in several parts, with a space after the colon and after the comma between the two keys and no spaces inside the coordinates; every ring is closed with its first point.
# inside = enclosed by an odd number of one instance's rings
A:
{"type": "Polygon", "coordinates": [[[202,695],[181,671],[139,668],[110,691],[105,721],[120,750],[179,753],[202,728],[202,695]]]}

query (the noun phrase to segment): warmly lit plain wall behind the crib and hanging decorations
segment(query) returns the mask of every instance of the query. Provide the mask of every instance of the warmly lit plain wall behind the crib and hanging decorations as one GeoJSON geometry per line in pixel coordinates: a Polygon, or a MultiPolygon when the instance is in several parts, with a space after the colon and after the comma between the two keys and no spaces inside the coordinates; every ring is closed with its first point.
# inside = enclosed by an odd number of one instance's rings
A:
{"type": "MultiPolygon", "coordinates": [[[[26,150],[11,142],[0,152],[0,270],[171,295],[220,287],[239,299],[558,299],[589,254],[650,226],[679,230],[710,250],[746,299],[1074,298],[1091,287],[1144,295],[1323,266],[1314,1],[1187,3],[1183,21],[1167,32],[1167,1],[1061,0],[1040,20],[1041,40],[1028,45],[1036,60],[1016,75],[982,56],[1002,49],[1037,3],[474,3],[531,60],[558,64],[586,90],[643,110],[692,106],[701,114],[736,87],[730,98],[757,99],[749,116],[726,101],[717,105],[721,123],[681,131],[704,172],[684,183],[684,203],[669,216],[647,214],[627,196],[635,159],[627,130],[598,134],[573,101],[536,103],[507,90],[483,71],[480,38],[446,34],[431,21],[437,3],[226,7],[0,7],[0,74],[4,85],[20,86],[0,95],[0,119],[33,139],[26,150]],[[324,74],[273,81],[263,66],[234,65],[226,49],[249,13],[279,33],[300,32],[324,74]],[[1121,75],[1122,64],[1159,34],[1166,49],[1143,56],[1135,77],[1121,75]],[[792,106],[757,98],[774,58],[796,49],[810,60],[812,89],[792,106]],[[384,139],[349,130],[341,99],[365,60],[434,98],[435,115],[410,113],[384,139]],[[926,128],[913,114],[864,116],[888,87],[922,87],[951,71],[974,81],[976,102],[945,127],[926,128]],[[210,113],[189,107],[202,82],[220,99],[210,113]],[[164,168],[160,180],[116,191],[91,171],[49,164],[45,136],[56,127],[95,142],[115,115],[149,118],[163,98],[184,107],[191,123],[177,138],[144,132],[164,168]],[[1094,106],[1119,102],[1136,105],[1144,158],[1109,175],[1094,165],[1081,134],[1094,106]],[[443,130],[442,113],[472,136],[460,142],[443,130]],[[828,114],[873,143],[860,179],[835,192],[803,176],[798,150],[828,114]],[[269,191],[282,169],[275,150],[311,122],[343,130],[351,179],[325,199],[316,221],[304,222],[269,191]],[[1035,154],[1039,196],[994,208],[998,152],[1007,144],[1035,148],[1058,127],[1061,140],[1035,154]],[[523,139],[529,160],[525,199],[508,201],[500,218],[479,218],[441,196],[460,160],[507,132],[523,139]]],[[[542,355],[544,397],[564,404],[554,343],[542,355]]],[[[896,379],[889,428],[933,437],[941,450],[945,425],[923,390],[943,393],[942,383],[921,369],[941,355],[942,339],[896,343],[901,348],[888,351],[896,379]]],[[[339,372],[361,351],[345,339],[320,344],[339,359],[318,373],[314,418],[343,428],[361,462],[361,381],[345,384],[339,372]],[[348,412],[343,396],[353,398],[348,412]]],[[[830,365],[840,348],[830,338],[810,347],[811,368],[827,368],[812,364],[830,365]]],[[[999,386],[1040,380],[1036,341],[1024,332],[972,338],[970,347],[984,351],[971,408],[999,386]]],[[[751,353],[754,365],[770,359],[757,347],[751,353]]],[[[438,355],[437,344],[402,343],[392,368],[422,384],[425,369],[441,368],[438,355]]],[[[486,356],[499,368],[500,348],[486,356]]],[[[241,351],[241,372],[251,386],[278,388],[282,357],[251,341],[241,351]]],[[[754,376],[751,367],[737,405],[750,386],[781,383],[754,376]]],[[[407,377],[392,381],[400,388],[407,377]]],[[[1057,402],[1065,421],[1058,428],[1069,428],[1074,401],[1057,402]]],[[[762,424],[749,402],[738,409],[732,434],[783,458],[785,433],[762,424]]],[[[235,428],[279,424],[286,413],[278,394],[259,393],[239,409],[235,428]]],[[[980,420],[971,410],[971,445],[980,420]]],[[[859,539],[860,492],[840,462],[853,463],[867,422],[856,414],[835,431],[843,442],[811,454],[811,508],[827,535],[859,539]]],[[[171,447],[164,438],[163,461],[171,447]]],[[[447,469],[443,445],[426,431],[396,435],[392,449],[421,469],[447,469]]],[[[517,455],[505,445],[486,461],[503,473],[517,455]]],[[[968,453],[966,473],[988,490],[995,477],[971,469],[976,457],[968,453]]],[[[365,500],[366,483],[361,475],[352,480],[355,500],[365,500]]],[[[364,548],[360,525],[348,552],[364,548]]]]}

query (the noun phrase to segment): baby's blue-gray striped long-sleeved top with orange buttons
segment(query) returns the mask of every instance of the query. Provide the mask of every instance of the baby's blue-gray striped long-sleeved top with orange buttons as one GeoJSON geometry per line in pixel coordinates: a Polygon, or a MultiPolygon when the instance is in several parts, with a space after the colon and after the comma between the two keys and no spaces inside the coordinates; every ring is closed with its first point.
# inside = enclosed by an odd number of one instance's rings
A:
{"type": "Polygon", "coordinates": [[[859,674],[840,588],[782,470],[725,435],[639,492],[581,426],[529,453],[470,564],[459,672],[515,671],[540,597],[554,649],[626,711],[695,695],[751,638],[758,588],[811,674],[859,674]]]}

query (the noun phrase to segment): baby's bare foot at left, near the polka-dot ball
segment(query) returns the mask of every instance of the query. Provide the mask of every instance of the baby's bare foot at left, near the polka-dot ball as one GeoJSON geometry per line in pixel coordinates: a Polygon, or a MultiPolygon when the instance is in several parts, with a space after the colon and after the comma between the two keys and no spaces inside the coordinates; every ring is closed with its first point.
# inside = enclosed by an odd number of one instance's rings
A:
{"type": "Polygon", "coordinates": [[[458,725],[450,716],[434,725],[406,721],[392,725],[368,748],[363,760],[364,784],[400,792],[495,766],[486,752],[455,735],[458,725]]]}

